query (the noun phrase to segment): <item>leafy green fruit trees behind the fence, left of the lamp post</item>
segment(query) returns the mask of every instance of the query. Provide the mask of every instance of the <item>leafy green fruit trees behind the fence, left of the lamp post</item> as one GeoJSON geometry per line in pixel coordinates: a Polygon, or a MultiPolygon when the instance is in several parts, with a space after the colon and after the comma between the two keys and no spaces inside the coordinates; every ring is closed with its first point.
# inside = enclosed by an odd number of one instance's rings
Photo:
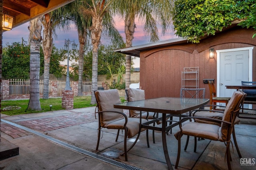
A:
{"type": "MultiPolygon", "coordinates": [[[[53,47],[50,73],[61,77],[64,67],[60,66],[64,51],[53,47]]],[[[44,72],[44,54],[40,47],[40,75],[44,72]]],[[[30,78],[30,45],[27,42],[9,43],[3,47],[2,53],[2,76],[5,79],[29,79],[30,78]]]]}

